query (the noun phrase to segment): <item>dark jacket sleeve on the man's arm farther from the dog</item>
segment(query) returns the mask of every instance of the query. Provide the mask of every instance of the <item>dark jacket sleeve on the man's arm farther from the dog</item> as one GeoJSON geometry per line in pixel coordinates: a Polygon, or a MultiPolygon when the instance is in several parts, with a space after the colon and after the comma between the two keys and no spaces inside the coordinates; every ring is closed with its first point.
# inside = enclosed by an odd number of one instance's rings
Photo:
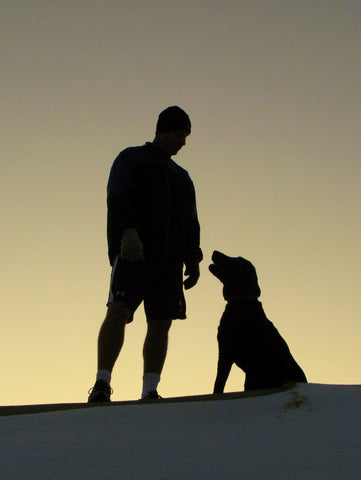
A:
{"type": "Polygon", "coordinates": [[[125,228],[135,225],[134,166],[126,151],[115,159],[107,186],[108,256],[113,265],[125,228]]]}

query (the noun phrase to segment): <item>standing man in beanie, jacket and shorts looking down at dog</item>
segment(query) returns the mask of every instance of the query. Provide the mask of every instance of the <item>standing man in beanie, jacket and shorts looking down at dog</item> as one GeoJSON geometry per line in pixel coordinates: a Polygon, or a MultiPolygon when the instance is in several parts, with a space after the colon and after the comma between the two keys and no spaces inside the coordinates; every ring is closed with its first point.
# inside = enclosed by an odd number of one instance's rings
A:
{"type": "Polygon", "coordinates": [[[107,188],[111,285],[88,402],[110,401],[125,326],[142,301],[147,334],[141,398],[159,398],[168,332],[172,320],[186,318],[183,285],[197,283],[202,260],[193,182],[171,159],[190,132],[186,112],[168,107],[159,114],[153,142],[125,149],[113,163],[107,188]]]}

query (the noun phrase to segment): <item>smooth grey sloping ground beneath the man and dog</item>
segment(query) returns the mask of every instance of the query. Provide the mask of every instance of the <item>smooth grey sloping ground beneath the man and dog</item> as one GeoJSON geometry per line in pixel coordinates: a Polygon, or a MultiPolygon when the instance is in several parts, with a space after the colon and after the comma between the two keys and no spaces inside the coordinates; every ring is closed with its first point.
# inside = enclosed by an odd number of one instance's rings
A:
{"type": "Polygon", "coordinates": [[[361,385],[0,417],[1,480],[360,480],[361,385]]]}

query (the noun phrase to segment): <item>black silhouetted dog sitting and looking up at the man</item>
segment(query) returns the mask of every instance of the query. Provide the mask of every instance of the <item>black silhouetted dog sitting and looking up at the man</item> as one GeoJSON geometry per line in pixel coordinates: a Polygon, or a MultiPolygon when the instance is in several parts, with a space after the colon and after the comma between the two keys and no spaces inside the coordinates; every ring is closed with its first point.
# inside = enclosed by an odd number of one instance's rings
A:
{"type": "Polygon", "coordinates": [[[233,363],[245,374],[245,390],[307,383],[287,343],[266,317],[256,269],[242,257],[214,251],[211,273],[223,283],[227,302],[218,327],[219,358],[213,393],[223,393],[233,363]]]}

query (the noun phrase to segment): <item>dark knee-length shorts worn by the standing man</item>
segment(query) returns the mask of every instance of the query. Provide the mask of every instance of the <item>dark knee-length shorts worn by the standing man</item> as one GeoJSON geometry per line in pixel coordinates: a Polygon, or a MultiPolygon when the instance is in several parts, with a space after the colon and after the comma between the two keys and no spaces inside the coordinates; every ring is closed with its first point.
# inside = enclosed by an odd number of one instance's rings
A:
{"type": "MultiPolygon", "coordinates": [[[[112,269],[108,305],[123,302],[135,312],[142,301],[147,321],[185,319],[183,265],[132,263],[117,257],[112,269]]],[[[133,316],[128,323],[132,320],[133,316]]]]}

